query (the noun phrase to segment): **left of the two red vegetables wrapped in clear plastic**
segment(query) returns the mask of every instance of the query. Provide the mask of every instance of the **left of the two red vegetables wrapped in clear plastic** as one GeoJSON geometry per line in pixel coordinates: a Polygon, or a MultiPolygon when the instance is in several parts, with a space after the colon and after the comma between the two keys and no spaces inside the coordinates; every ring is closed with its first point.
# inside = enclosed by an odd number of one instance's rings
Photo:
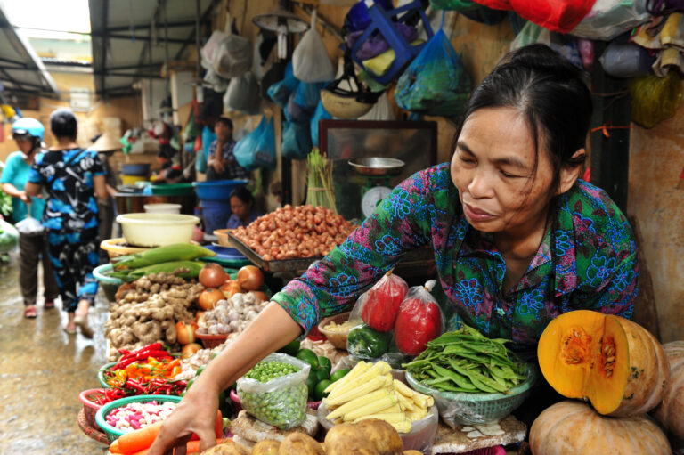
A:
{"type": "Polygon", "coordinates": [[[396,275],[382,277],[367,293],[361,310],[361,319],[371,329],[388,332],[395,327],[396,313],[406,297],[409,287],[396,275]]]}

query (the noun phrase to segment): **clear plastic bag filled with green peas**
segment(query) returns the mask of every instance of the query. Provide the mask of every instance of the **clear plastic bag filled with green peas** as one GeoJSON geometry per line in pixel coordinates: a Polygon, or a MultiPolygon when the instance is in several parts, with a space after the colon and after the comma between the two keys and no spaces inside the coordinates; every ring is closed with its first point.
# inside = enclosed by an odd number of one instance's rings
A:
{"type": "Polygon", "coordinates": [[[299,427],[306,417],[306,378],[311,365],[284,353],[269,354],[261,362],[289,363],[299,370],[265,383],[244,377],[238,379],[237,393],[242,408],[281,430],[299,427]]]}

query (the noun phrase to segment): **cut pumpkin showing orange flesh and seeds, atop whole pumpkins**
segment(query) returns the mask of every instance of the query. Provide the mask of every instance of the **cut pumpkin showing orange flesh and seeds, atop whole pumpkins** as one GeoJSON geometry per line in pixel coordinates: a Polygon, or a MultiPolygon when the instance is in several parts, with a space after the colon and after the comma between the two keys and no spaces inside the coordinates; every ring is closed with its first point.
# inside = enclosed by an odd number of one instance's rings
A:
{"type": "Polygon", "coordinates": [[[663,346],[647,329],[589,310],[561,314],[537,347],[544,378],[558,394],[589,400],[600,414],[636,416],[663,399],[669,378],[663,346]]]}

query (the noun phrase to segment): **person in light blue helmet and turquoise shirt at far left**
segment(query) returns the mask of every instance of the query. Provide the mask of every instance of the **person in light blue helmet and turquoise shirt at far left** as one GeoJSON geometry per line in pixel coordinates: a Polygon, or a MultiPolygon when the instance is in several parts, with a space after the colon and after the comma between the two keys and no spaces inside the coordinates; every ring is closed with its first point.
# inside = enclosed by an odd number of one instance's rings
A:
{"type": "MultiPolygon", "coordinates": [[[[45,200],[31,198],[24,191],[31,170],[33,158],[41,153],[40,143],[43,141],[45,126],[35,118],[20,118],[12,124],[12,139],[17,142],[19,151],[14,151],[7,158],[0,183],[5,193],[12,196],[12,214],[14,223],[30,215],[40,220],[45,210],[45,200]],[[30,214],[29,208],[30,207],[30,214]]],[[[57,281],[54,280],[53,266],[47,255],[47,241],[43,233],[19,235],[19,284],[21,297],[24,300],[24,317],[34,319],[37,316],[36,297],[38,293],[38,263],[43,264],[43,287],[45,309],[54,308],[54,299],[60,295],[57,281]]]]}

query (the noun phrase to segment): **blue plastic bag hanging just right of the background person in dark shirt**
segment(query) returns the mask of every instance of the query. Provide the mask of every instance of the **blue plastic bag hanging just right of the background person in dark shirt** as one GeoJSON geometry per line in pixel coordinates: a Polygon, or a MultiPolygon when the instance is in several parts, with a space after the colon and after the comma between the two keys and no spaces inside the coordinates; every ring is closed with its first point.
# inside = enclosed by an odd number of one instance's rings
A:
{"type": "Polygon", "coordinates": [[[275,169],[273,118],[262,117],[256,129],[235,144],[232,153],[235,155],[238,164],[250,171],[257,167],[275,169]]]}

